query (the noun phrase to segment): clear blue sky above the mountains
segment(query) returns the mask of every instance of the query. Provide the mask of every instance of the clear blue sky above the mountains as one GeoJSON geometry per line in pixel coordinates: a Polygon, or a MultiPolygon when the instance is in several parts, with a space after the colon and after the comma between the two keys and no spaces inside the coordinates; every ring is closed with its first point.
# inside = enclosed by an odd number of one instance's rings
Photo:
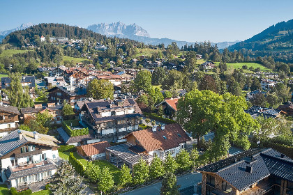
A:
{"type": "Polygon", "coordinates": [[[87,27],[136,23],[151,38],[190,42],[245,40],[293,19],[292,0],[0,0],[0,31],[22,23],[56,22],[87,27]]]}

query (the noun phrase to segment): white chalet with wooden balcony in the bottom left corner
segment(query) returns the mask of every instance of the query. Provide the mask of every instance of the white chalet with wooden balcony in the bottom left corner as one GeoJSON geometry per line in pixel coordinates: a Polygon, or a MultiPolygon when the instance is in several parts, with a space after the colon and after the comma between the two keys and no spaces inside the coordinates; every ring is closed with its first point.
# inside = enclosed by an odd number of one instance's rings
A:
{"type": "Polygon", "coordinates": [[[59,160],[57,139],[38,132],[15,130],[0,139],[0,181],[17,190],[50,179],[59,160]]]}

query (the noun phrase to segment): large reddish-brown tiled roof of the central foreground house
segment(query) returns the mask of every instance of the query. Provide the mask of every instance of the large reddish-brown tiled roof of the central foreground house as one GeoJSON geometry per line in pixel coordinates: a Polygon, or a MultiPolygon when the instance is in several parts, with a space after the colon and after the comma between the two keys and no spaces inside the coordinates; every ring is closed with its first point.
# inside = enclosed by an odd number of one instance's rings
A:
{"type": "Polygon", "coordinates": [[[165,130],[161,130],[161,127],[157,127],[156,132],[153,132],[152,129],[131,132],[126,138],[131,134],[147,152],[153,150],[169,150],[179,146],[179,143],[190,140],[190,137],[188,137],[178,123],[165,125],[165,130]]]}

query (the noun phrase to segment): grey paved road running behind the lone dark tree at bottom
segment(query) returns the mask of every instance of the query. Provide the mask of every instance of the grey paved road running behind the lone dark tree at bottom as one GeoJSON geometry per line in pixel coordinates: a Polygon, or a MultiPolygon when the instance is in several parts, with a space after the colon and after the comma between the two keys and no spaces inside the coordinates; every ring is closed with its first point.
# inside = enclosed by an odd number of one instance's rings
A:
{"type": "MultiPolygon", "coordinates": [[[[180,189],[183,189],[183,188],[190,187],[197,184],[199,180],[202,180],[201,173],[188,173],[186,175],[177,177],[177,184],[181,185],[180,189]]],[[[160,187],[162,187],[162,183],[158,182],[153,185],[148,185],[146,187],[142,187],[130,192],[126,192],[123,195],[144,195],[144,194],[159,195],[160,187]]]]}

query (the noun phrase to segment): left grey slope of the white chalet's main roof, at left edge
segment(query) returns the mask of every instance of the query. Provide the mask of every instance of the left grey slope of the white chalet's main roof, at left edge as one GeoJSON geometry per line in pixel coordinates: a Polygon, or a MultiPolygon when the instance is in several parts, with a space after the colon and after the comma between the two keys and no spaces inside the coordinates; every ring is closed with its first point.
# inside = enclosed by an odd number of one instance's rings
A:
{"type": "Polygon", "coordinates": [[[27,143],[27,139],[19,139],[17,130],[0,139],[0,157],[27,143]]]}

